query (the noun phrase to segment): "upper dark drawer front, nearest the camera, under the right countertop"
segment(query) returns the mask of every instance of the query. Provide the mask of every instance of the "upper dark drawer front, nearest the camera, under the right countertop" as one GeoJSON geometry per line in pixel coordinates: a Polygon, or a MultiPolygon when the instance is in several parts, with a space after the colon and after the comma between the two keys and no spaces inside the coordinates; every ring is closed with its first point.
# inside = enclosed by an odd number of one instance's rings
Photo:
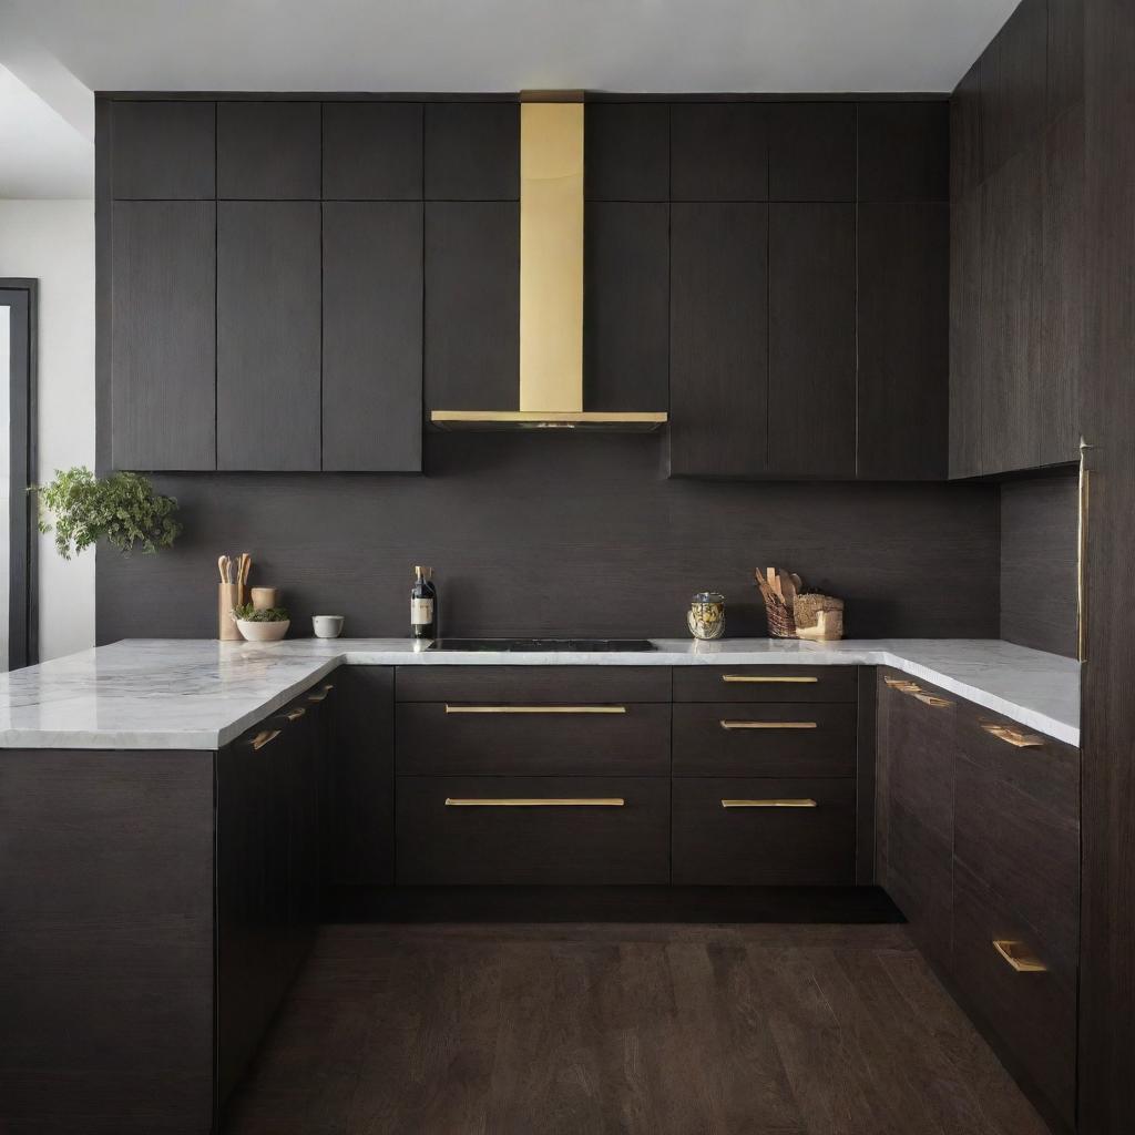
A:
{"type": "Polygon", "coordinates": [[[1074,968],[1079,941],[1079,755],[967,709],[953,854],[1074,968]],[[981,726],[992,724],[999,733],[981,726]],[[1002,740],[1009,737],[1017,743],[1002,740]],[[1028,743],[1019,747],[1022,740],[1028,743]]]}

